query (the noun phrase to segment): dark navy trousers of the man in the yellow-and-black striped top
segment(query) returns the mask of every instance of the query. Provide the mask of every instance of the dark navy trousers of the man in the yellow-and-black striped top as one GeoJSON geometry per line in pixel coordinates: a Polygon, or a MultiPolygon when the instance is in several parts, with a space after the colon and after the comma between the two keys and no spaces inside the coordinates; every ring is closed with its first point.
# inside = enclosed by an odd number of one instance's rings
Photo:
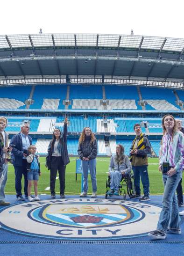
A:
{"type": "Polygon", "coordinates": [[[141,177],[144,196],[149,197],[148,166],[147,165],[132,166],[132,169],[134,172],[134,184],[135,184],[136,194],[141,195],[141,189],[140,189],[140,177],[141,177]]]}

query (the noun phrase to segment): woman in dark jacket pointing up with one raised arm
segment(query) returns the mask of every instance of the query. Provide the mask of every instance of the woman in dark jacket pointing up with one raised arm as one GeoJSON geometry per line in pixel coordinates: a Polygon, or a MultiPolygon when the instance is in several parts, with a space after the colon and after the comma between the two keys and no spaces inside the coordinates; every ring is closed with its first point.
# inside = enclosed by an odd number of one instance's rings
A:
{"type": "Polygon", "coordinates": [[[64,120],[64,132],[58,128],[53,132],[53,139],[48,147],[46,166],[50,170],[50,193],[51,198],[56,198],[55,183],[57,171],[59,173],[60,198],[65,198],[65,169],[70,162],[67,151],[67,118],[64,120]]]}

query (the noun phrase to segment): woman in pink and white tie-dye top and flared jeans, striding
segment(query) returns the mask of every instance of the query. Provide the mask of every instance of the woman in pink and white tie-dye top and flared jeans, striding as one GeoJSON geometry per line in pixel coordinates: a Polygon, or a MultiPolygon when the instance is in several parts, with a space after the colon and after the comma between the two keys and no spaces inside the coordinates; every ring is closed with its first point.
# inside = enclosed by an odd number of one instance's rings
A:
{"type": "Polygon", "coordinates": [[[149,233],[154,239],[164,239],[166,233],[181,234],[180,218],[175,191],[182,177],[184,168],[184,135],[177,130],[177,124],[172,115],[162,119],[163,139],[162,155],[159,161],[159,171],[163,163],[168,163],[167,173],[163,173],[163,209],[157,224],[157,229],[149,233]]]}

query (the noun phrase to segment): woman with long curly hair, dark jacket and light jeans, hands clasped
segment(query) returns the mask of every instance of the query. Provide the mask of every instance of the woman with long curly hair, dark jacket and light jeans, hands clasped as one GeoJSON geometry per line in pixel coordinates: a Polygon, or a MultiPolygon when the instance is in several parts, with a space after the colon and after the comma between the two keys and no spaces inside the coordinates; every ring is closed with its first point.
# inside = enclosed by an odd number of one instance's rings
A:
{"type": "Polygon", "coordinates": [[[85,127],[79,138],[78,156],[82,160],[83,171],[83,192],[80,197],[87,196],[88,190],[88,168],[92,180],[92,198],[97,197],[97,180],[96,180],[96,157],[97,157],[97,139],[89,127],[85,127]]]}

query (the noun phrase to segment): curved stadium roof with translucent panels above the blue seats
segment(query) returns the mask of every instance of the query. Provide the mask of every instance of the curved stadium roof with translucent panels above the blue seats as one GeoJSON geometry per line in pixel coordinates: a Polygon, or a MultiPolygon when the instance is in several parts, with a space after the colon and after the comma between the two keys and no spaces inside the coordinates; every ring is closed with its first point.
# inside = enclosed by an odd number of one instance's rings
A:
{"type": "Polygon", "coordinates": [[[184,88],[184,39],[107,34],[0,36],[0,85],[140,84],[184,88]]]}

